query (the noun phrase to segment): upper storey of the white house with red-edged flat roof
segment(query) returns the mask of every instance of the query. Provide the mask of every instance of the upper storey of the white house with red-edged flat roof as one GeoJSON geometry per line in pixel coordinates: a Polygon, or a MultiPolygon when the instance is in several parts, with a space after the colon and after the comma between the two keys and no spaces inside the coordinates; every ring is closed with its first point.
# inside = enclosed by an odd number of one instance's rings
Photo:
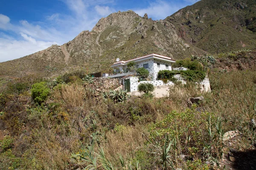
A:
{"type": "Polygon", "coordinates": [[[157,74],[161,70],[172,70],[172,63],[175,62],[174,59],[170,57],[161,56],[158,54],[149,54],[143,57],[138,57],[135,59],[130,59],[128,61],[115,62],[111,67],[114,69],[116,75],[109,76],[110,78],[124,77],[127,75],[132,75],[133,73],[128,72],[127,64],[129,62],[135,62],[135,68],[145,68],[149,71],[149,78],[151,81],[157,79],[157,74]]]}

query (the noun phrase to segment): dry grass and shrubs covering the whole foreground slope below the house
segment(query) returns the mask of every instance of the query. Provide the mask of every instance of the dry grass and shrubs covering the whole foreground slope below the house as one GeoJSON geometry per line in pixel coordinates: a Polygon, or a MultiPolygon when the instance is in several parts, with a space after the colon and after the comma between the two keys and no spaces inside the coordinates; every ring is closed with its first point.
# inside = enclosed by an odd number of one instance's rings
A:
{"type": "MultiPolygon", "coordinates": [[[[10,82],[0,95],[0,167],[223,169],[227,160],[222,153],[227,155],[231,147],[243,152],[256,142],[250,124],[256,119],[256,71],[220,70],[209,71],[211,92],[201,92],[189,82],[172,86],[166,98],[131,97],[122,102],[96,96],[83,85],[91,79],[82,80],[81,73],[70,74],[67,83],[26,77],[10,82]],[[30,88],[42,81],[51,93],[38,105],[30,88]],[[201,95],[202,102],[187,107],[187,99],[201,95]],[[239,135],[224,142],[229,130],[239,135]]],[[[64,77],[67,74],[58,79],[64,77]]]]}

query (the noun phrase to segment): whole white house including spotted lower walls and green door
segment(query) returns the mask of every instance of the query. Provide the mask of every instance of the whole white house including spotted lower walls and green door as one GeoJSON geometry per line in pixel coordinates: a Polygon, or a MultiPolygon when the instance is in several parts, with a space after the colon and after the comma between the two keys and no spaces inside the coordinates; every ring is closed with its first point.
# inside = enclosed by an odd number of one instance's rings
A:
{"type": "Polygon", "coordinates": [[[149,54],[143,57],[138,57],[135,59],[130,59],[127,61],[119,61],[115,62],[111,65],[116,72],[116,75],[108,76],[109,78],[122,78],[120,82],[122,82],[123,90],[127,91],[137,91],[137,86],[142,81],[139,82],[138,77],[133,77],[134,73],[127,71],[127,64],[131,61],[134,61],[136,64],[136,68],[146,68],[149,71],[149,78],[153,85],[163,85],[163,81],[157,81],[157,74],[161,70],[171,70],[172,71],[172,63],[175,62],[174,59],[170,57],[161,56],[158,54],[149,54]]]}

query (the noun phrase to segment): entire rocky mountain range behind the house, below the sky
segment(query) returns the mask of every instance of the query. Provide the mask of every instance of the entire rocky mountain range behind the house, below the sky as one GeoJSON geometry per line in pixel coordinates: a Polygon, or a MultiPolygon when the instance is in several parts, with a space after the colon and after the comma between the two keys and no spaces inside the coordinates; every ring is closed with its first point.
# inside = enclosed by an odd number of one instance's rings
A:
{"type": "Polygon", "coordinates": [[[181,59],[256,46],[255,0],[201,0],[164,20],[134,11],[102,18],[64,45],[0,63],[0,76],[56,76],[74,69],[109,71],[122,60],[156,53],[181,59]]]}

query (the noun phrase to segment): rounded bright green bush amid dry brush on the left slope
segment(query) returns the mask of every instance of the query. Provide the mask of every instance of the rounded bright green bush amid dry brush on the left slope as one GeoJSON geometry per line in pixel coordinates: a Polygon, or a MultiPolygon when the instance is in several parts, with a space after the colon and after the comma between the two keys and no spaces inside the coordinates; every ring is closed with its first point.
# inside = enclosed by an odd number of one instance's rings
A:
{"type": "Polygon", "coordinates": [[[38,82],[32,85],[31,96],[32,99],[41,104],[44,102],[50,93],[50,89],[47,88],[46,82],[38,82]]]}

